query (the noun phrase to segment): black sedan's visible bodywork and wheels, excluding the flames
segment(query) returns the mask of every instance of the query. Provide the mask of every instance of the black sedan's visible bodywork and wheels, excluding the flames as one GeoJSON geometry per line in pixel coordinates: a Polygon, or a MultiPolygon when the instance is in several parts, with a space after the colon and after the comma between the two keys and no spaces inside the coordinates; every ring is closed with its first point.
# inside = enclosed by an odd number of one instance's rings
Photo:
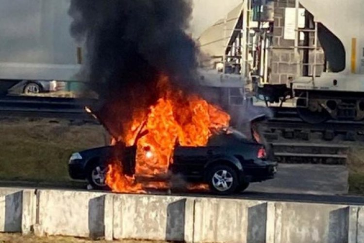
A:
{"type": "MultiPolygon", "coordinates": [[[[87,179],[95,189],[107,189],[107,161],[114,150],[114,146],[106,146],[74,153],[68,163],[70,177],[87,179]]],[[[124,173],[133,175],[136,147],[126,151],[124,173]]],[[[205,147],[177,145],[169,171],[187,182],[207,183],[217,194],[231,194],[244,191],[249,183],[274,178],[277,162],[267,159],[264,145],[229,129],[212,136],[205,147]]]]}

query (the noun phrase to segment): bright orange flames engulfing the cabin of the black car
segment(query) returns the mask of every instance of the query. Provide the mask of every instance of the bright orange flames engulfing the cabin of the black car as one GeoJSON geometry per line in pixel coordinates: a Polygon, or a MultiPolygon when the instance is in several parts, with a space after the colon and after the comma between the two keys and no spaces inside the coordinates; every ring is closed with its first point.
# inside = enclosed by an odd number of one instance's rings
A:
{"type": "MultiPolygon", "coordinates": [[[[125,124],[127,134],[117,138],[127,146],[136,142],[137,175],[166,174],[170,163],[173,163],[177,143],[181,146],[206,146],[214,131],[229,126],[230,122],[230,116],[219,107],[198,95],[186,95],[173,89],[165,76],[159,80],[158,88],[160,98],[149,107],[149,112],[134,112],[132,121],[125,124]],[[143,122],[145,125],[140,131],[143,122]],[[137,133],[143,131],[148,133],[135,140],[137,133]]],[[[116,139],[112,144],[115,143],[116,139]]],[[[115,192],[142,192],[140,183],[123,174],[121,164],[121,161],[113,161],[109,165],[107,185],[115,192]]]]}

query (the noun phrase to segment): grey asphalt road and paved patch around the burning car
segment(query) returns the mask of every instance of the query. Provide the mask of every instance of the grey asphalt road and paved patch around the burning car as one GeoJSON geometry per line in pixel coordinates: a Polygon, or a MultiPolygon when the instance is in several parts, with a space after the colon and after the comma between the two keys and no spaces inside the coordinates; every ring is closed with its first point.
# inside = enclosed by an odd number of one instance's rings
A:
{"type": "MultiPolygon", "coordinates": [[[[264,201],[297,201],[331,204],[364,205],[364,197],[347,194],[347,169],[332,165],[280,164],[275,179],[253,183],[241,193],[216,196],[206,191],[150,191],[156,195],[224,197],[264,201]]],[[[0,181],[0,187],[87,191],[86,182],[35,183],[0,181]]]]}

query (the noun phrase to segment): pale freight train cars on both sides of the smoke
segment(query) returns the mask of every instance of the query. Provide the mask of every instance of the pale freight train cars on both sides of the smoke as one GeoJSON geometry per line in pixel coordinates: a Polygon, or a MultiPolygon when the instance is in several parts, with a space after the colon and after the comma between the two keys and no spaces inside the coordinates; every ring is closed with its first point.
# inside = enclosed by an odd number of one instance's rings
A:
{"type": "MultiPolygon", "coordinates": [[[[193,0],[199,81],[246,100],[292,106],[310,123],[364,119],[362,0],[193,0]]],[[[70,0],[0,0],[0,94],[19,82],[81,81],[70,0]]],[[[219,97],[221,100],[221,97],[219,97]]]]}

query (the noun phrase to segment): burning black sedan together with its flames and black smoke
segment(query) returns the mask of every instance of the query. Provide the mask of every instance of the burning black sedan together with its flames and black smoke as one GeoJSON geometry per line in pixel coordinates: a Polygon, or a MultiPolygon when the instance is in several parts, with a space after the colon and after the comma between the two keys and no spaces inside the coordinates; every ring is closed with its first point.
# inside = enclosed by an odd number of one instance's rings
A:
{"type": "Polygon", "coordinates": [[[182,177],[226,194],[274,176],[263,145],[226,129],[240,120],[227,111],[250,117],[230,104],[231,89],[242,94],[244,80],[200,75],[199,45],[186,34],[190,1],[96,2],[72,1],[71,33],[86,40],[81,76],[99,97],[89,111],[111,146],[72,155],[73,178],[142,193],[182,177]]]}

